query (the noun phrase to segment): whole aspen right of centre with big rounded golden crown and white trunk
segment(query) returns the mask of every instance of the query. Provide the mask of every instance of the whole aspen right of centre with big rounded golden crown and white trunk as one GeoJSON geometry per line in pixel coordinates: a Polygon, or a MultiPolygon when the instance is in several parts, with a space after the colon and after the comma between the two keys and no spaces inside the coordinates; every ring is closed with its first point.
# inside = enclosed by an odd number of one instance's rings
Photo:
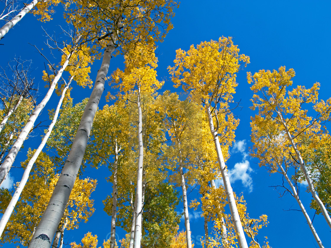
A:
{"type": "Polygon", "coordinates": [[[187,52],[178,49],[174,60],[175,66],[169,66],[168,69],[176,87],[181,85],[185,92],[191,93],[192,99],[203,103],[239,246],[247,248],[217,133],[219,119],[225,120],[227,113],[230,113],[229,102],[232,102],[237,85],[235,73],[240,68],[239,61],[247,64],[249,57],[239,55],[239,49],[233,45],[231,37],[221,37],[218,41],[202,42],[197,48],[192,45],[187,52]]]}

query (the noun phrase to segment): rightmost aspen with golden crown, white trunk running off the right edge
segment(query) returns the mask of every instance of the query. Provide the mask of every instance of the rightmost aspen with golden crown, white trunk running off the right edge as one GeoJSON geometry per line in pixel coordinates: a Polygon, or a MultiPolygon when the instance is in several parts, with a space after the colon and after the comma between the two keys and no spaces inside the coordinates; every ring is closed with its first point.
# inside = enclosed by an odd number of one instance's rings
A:
{"type": "MultiPolygon", "coordinates": [[[[286,137],[286,150],[282,155],[288,156],[293,154],[293,159],[300,165],[300,169],[307,180],[312,197],[331,228],[330,216],[315,191],[315,186],[300,152],[303,139],[313,140],[313,136],[323,134],[320,123],[329,120],[331,106],[325,104],[324,101],[317,102],[319,83],[315,83],[310,89],[298,86],[292,91],[286,92],[286,87],[291,86],[293,83],[291,79],[294,75],[294,70],[289,69],[286,71],[285,66],[280,67],[279,71],[260,70],[253,76],[251,73],[248,73],[248,82],[253,83],[251,89],[255,93],[252,99],[252,109],[259,109],[257,116],[261,124],[267,125],[273,120],[272,124],[277,124],[278,127],[281,127],[282,132],[279,135],[286,137]],[[286,93],[288,96],[286,96],[286,93]],[[307,110],[303,109],[302,106],[305,103],[314,104],[314,109],[318,113],[316,118],[307,116],[307,110]]],[[[331,102],[331,99],[328,101],[331,102]]]]}

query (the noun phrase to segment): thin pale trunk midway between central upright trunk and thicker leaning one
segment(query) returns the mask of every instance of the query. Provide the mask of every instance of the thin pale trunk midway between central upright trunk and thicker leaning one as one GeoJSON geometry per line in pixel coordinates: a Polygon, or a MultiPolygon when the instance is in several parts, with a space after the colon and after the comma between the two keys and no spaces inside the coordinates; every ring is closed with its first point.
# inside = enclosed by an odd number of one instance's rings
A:
{"type": "Polygon", "coordinates": [[[190,220],[189,220],[188,206],[187,206],[186,185],[185,185],[185,178],[184,178],[184,172],[183,172],[182,150],[180,148],[180,141],[178,139],[177,139],[177,145],[179,147],[179,176],[180,176],[180,186],[182,187],[182,192],[183,192],[184,220],[185,220],[185,229],[186,229],[186,245],[187,245],[187,248],[192,248],[191,228],[190,228],[190,220]]]}

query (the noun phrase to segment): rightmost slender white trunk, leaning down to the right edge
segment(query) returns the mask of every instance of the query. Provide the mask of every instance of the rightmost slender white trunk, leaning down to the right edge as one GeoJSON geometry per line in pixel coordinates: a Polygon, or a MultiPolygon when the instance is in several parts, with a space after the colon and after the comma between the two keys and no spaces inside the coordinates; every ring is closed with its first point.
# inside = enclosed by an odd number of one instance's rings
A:
{"type": "Polygon", "coordinates": [[[326,222],[328,223],[329,227],[331,228],[331,218],[330,218],[328,212],[326,211],[326,208],[325,208],[323,202],[319,199],[319,196],[318,196],[318,194],[315,191],[314,185],[313,185],[313,183],[312,183],[312,181],[310,179],[309,173],[308,173],[307,168],[305,166],[304,160],[301,157],[300,151],[299,151],[297,145],[295,144],[295,142],[294,142],[294,140],[292,138],[292,135],[291,135],[291,133],[290,133],[290,131],[289,131],[289,129],[288,129],[288,127],[287,127],[287,125],[286,125],[286,123],[285,123],[282,115],[281,115],[281,113],[279,111],[277,111],[277,114],[278,114],[278,117],[280,118],[280,120],[281,120],[281,122],[282,122],[282,124],[284,126],[285,132],[287,134],[288,139],[291,142],[292,148],[294,149],[294,151],[295,151],[295,153],[297,155],[297,159],[298,159],[298,162],[300,164],[300,168],[301,168],[302,172],[304,173],[305,178],[307,180],[309,191],[312,194],[312,197],[314,198],[314,200],[316,201],[319,209],[321,210],[321,213],[323,214],[326,222]]]}

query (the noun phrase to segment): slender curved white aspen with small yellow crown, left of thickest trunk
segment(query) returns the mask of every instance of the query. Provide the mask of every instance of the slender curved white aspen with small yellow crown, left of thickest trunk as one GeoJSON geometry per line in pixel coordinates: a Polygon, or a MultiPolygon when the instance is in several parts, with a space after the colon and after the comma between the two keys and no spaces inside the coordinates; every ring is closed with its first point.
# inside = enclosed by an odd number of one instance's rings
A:
{"type": "MultiPolygon", "coordinates": [[[[46,132],[46,134],[44,136],[44,138],[42,139],[39,147],[36,149],[36,151],[34,152],[33,156],[31,157],[30,161],[26,165],[26,168],[24,170],[22,179],[21,179],[19,185],[17,186],[17,188],[15,190],[15,193],[14,193],[14,195],[13,195],[13,197],[12,197],[12,199],[11,199],[11,201],[10,201],[10,203],[9,203],[6,211],[5,211],[5,213],[3,214],[2,218],[1,218],[1,221],[0,221],[0,236],[1,236],[1,234],[2,234],[2,232],[3,232],[3,230],[4,230],[5,226],[6,226],[6,224],[7,224],[8,220],[9,220],[9,218],[10,218],[10,215],[12,214],[12,212],[13,212],[13,210],[15,208],[15,205],[16,205],[16,203],[17,203],[17,201],[18,201],[18,199],[19,199],[19,197],[20,197],[20,195],[21,195],[21,193],[23,191],[23,188],[24,188],[24,186],[25,186],[25,184],[26,184],[26,182],[28,180],[28,177],[29,177],[31,168],[32,168],[33,164],[35,163],[36,159],[38,158],[40,152],[42,151],[42,149],[46,145],[46,142],[47,142],[47,140],[48,140],[48,138],[49,138],[49,136],[50,136],[50,134],[51,134],[51,132],[53,130],[53,127],[54,127],[54,125],[56,123],[56,120],[57,120],[57,117],[59,115],[59,111],[60,111],[60,107],[62,105],[62,101],[63,101],[63,99],[66,96],[66,92],[67,92],[68,88],[70,87],[71,81],[73,79],[75,79],[75,80],[77,80],[77,84],[78,85],[81,84],[79,82],[79,79],[82,78],[82,75],[84,75],[84,71],[86,71],[86,68],[84,67],[84,65],[86,65],[86,61],[91,62],[90,57],[84,55],[84,53],[82,52],[82,50],[80,50],[80,53],[79,53],[79,55],[80,55],[80,58],[79,58],[80,60],[79,61],[77,61],[77,59],[78,59],[77,56],[78,55],[77,54],[75,54],[75,55],[76,56],[73,56],[73,57],[70,58],[71,65],[69,66],[69,68],[71,68],[71,70],[70,70],[71,78],[70,78],[68,84],[64,85],[64,87],[63,87],[62,95],[61,95],[61,98],[59,100],[59,103],[58,103],[58,105],[56,107],[56,110],[54,112],[53,120],[52,120],[52,122],[51,122],[51,124],[50,124],[50,126],[49,126],[49,128],[48,128],[48,130],[47,130],[47,132],[46,132]],[[72,67],[73,67],[73,69],[72,69],[72,67]],[[77,78],[77,75],[79,75],[78,78],[77,78]]],[[[86,83],[86,81],[88,81],[88,78],[84,78],[84,79],[85,80],[84,80],[83,83],[86,83]]]]}

